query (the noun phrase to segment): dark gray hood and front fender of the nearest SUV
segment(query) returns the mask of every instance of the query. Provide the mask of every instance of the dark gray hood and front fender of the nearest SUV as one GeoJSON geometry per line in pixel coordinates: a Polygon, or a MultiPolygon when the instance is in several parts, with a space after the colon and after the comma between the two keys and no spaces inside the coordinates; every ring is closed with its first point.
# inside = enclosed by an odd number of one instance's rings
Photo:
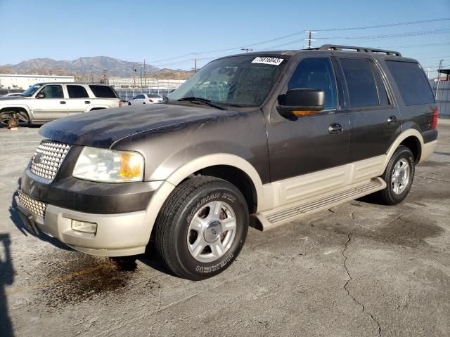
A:
{"type": "Polygon", "coordinates": [[[144,180],[164,180],[188,161],[226,153],[249,161],[268,183],[264,116],[259,109],[240,110],[192,104],[130,106],[58,119],[42,126],[39,133],[71,145],[141,152],[144,180]]]}

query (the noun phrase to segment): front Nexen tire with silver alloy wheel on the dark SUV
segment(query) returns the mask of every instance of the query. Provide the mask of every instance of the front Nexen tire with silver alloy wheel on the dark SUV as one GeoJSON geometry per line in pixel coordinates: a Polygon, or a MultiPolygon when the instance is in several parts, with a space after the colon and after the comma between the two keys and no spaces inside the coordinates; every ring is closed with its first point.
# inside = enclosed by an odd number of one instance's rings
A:
{"type": "Polygon", "coordinates": [[[198,176],[176,187],[162,206],[155,223],[155,248],[175,275],[207,279],[236,259],[248,223],[247,203],[234,185],[198,176]]]}

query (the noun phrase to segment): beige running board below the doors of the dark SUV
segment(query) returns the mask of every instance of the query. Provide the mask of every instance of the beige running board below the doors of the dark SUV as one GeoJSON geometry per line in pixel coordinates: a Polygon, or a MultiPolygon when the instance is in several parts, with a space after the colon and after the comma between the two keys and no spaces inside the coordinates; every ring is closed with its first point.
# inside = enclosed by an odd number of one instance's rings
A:
{"type": "Polygon", "coordinates": [[[294,204],[256,213],[252,216],[259,220],[259,223],[261,224],[259,227],[262,227],[259,229],[263,231],[270,230],[279,225],[297,220],[302,216],[323,211],[324,209],[329,209],[330,207],[358,199],[364,195],[383,190],[385,187],[386,183],[383,179],[373,178],[307,200],[298,201],[294,204]]]}

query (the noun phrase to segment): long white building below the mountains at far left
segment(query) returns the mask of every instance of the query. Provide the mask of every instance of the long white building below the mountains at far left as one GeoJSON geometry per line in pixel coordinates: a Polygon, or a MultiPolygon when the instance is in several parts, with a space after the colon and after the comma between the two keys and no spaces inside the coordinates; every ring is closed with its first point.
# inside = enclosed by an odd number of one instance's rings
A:
{"type": "Polygon", "coordinates": [[[0,89],[26,90],[33,84],[41,82],[75,82],[75,78],[73,76],[0,74],[0,89]]]}

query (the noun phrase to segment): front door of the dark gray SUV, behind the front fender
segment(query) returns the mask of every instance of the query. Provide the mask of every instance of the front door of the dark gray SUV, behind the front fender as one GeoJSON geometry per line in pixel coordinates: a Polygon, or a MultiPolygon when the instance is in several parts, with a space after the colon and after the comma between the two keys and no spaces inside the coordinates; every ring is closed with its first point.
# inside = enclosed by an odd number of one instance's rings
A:
{"type": "Polygon", "coordinates": [[[280,100],[287,90],[320,89],[326,100],[323,111],[295,119],[279,116],[276,106],[271,111],[271,116],[278,114],[267,125],[272,182],[348,162],[349,117],[338,110],[338,90],[330,56],[331,53],[329,57],[302,58],[278,96],[278,104],[282,104],[280,100]]]}

